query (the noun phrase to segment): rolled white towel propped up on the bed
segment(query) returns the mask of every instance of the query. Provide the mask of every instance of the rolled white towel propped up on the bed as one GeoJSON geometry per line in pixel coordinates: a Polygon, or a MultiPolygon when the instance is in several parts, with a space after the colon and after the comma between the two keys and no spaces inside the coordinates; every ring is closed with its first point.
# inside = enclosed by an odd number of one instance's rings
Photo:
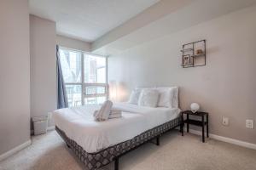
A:
{"type": "Polygon", "coordinates": [[[106,121],[108,120],[110,111],[112,109],[112,101],[107,100],[103,103],[100,111],[95,111],[93,116],[95,117],[95,120],[98,122],[106,121]]]}

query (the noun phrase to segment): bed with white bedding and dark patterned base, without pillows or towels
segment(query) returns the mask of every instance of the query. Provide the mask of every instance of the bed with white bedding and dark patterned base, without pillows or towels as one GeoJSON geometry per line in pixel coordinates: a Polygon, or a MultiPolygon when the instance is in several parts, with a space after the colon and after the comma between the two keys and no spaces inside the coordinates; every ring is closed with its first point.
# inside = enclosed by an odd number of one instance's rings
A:
{"type": "Polygon", "coordinates": [[[159,144],[160,134],[183,127],[180,110],[166,107],[143,107],[128,103],[114,104],[121,118],[94,121],[99,105],[86,105],[54,111],[55,129],[84,163],[87,169],[98,169],[152,139],[159,144]]]}

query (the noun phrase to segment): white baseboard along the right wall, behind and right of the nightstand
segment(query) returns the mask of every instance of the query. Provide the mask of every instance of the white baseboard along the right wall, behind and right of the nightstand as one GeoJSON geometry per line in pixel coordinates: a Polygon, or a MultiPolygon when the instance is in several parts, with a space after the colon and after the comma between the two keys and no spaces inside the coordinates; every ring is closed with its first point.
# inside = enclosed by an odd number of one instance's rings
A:
{"type": "MultiPolygon", "coordinates": [[[[187,131],[187,129],[186,129],[186,127],[184,127],[184,132],[186,132],[186,131],[187,131]]],[[[197,130],[190,129],[190,128],[189,128],[189,133],[193,133],[193,134],[196,134],[196,135],[201,135],[201,131],[197,131],[197,130]]],[[[236,144],[236,145],[239,145],[239,146],[242,146],[242,147],[245,147],[245,148],[256,150],[256,144],[244,142],[244,141],[237,140],[237,139],[231,139],[231,138],[227,138],[227,137],[224,137],[224,136],[218,136],[218,135],[212,134],[212,133],[209,133],[209,137],[211,139],[216,139],[216,140],[223,141],[223,142],[226,142],[226,143],[236,144]]]]}

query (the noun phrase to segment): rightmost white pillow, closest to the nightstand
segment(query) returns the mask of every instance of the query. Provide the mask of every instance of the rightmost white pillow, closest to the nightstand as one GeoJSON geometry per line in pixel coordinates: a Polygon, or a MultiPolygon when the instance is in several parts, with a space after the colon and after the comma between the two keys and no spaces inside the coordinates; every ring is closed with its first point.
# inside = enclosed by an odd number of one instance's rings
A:
{"type": "Polygon", "coordinates": [[[170,87],[170,88],[157,88],[160,93],[160,97],[158,100],[158,107],[178,107],[178,88],[170,87]]]}

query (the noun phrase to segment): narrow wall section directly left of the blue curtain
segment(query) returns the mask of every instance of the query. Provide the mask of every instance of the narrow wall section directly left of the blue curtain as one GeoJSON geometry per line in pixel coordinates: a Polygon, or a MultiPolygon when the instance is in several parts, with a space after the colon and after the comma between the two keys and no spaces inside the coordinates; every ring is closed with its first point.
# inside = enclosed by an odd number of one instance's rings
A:
{"type": "Polygon", "coordinates": [[[55,22],[30,15],[30,45],[31,115],[47,116],[57,108],[55,22]]]}

